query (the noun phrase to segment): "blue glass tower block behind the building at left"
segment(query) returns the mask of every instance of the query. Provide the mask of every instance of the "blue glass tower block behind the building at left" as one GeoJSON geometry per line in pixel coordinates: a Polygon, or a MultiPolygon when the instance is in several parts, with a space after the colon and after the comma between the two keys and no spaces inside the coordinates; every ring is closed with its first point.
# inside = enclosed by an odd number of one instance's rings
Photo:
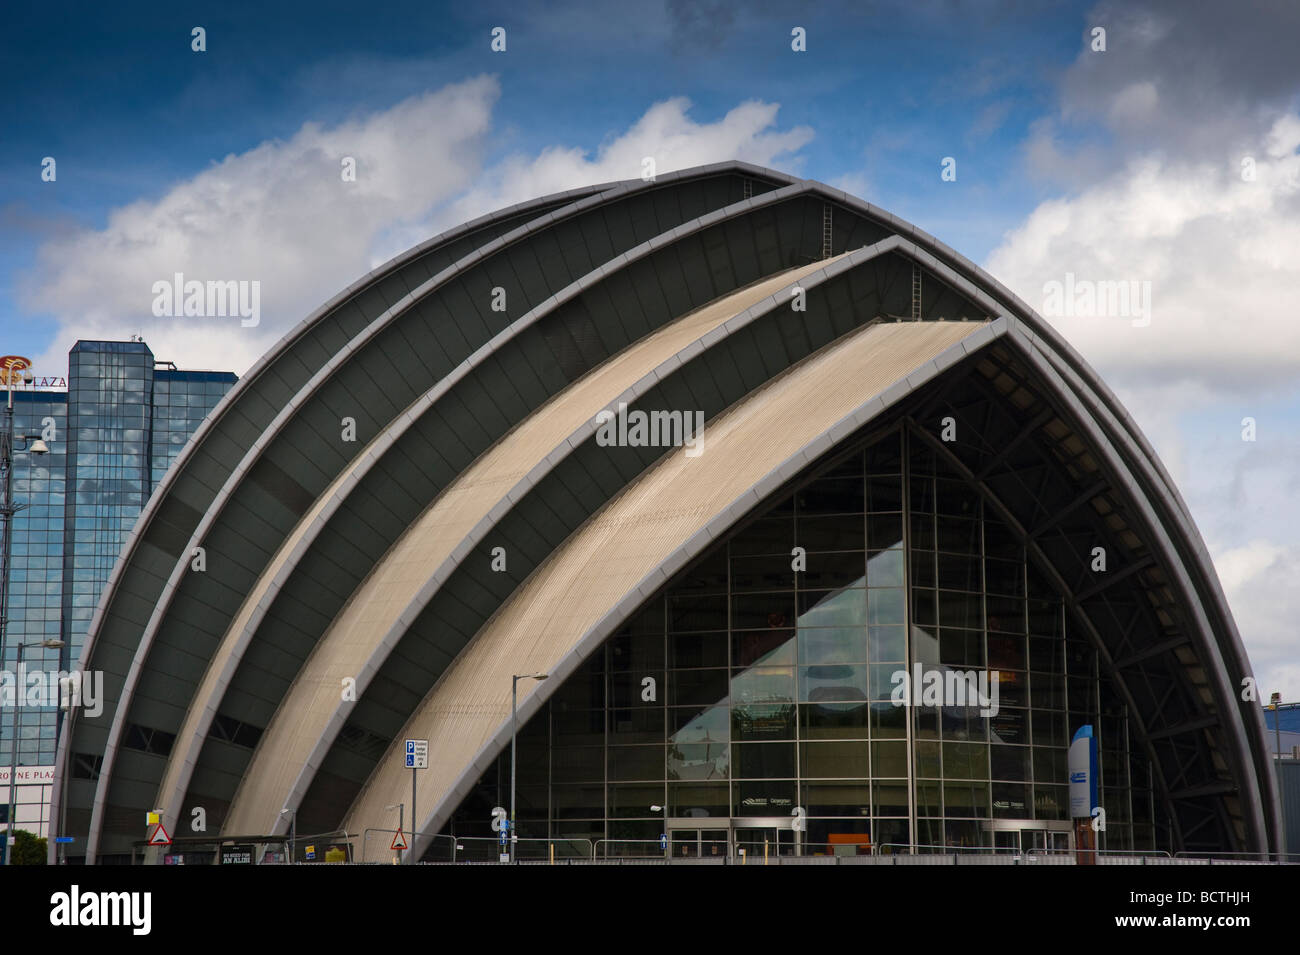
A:
{"type": "MultiPolygon", "coordinates": [[[[155,360],[143,342],[78,342],[69,353],[66,391],[14,394],[16,434],[46,435],[49,453],[20,451],[13,459],[13,498],[25,507],[13,524],[0,668],[17,673],[18,644],[27,644],[27,673],[77,665],[100,590],[135,518],[235,381],[229,372],[177,370],[155,360]],[[39,646],[49,639],[64,647],[39,646]]],[[[13,712],[0,716],[0,765],[8,773],[13,712]]],[[[18,765],[53,765],[57,730],[57,706],[20,707],[18,765]]],[[[36,807],[23,802],[16,824],[46,834],[35,816],[36,807]]]]}

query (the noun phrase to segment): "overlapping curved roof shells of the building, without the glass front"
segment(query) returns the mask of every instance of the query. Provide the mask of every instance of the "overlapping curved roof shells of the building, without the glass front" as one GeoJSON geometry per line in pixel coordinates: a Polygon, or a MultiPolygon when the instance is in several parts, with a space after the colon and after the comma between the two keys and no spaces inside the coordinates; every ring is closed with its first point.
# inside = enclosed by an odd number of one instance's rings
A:
{"type": "Polygon", "coordinates": [[[1236,693],[1245,655],[1186,505],[1118,401],[952,249],[738,162],[547,196],[430,240],[231,390],[92,622],[83,665],[105,672],[105,709],[74,719],[60,763],[103,763],[70,780],[73,829],[94,858],[127,851],[156,807],[174,824],[203,806],[226,832],[283,828],[282,808],[300,830],[358,828],[390,795],[403,730],[446,735],[421,800],[421,828],[437,825],[508,720],[500,687],[464,673],[497,673],[507,651],[571,669],[697,535],[878,416],[922,427],[939,407],[983,434],[940,451],[1023,530],[1123,687],[1175,838],[1265,847],[1277,808],[1262,721],[1236,693]],[[599,446],[593,414],[620,403],[702,412],[719,443],[696,470],[734,487],[689,479],[680,450],[599,446]],[[689,517],[651,539],[656,487],[689,517]],[[538,587],[590,577],[572,556],[584,535],[610,561],[606,590],[584,585],[582,620],[530,621],[538,587]],[[1123,556],[1105,581],[1078,567],[1098,535],[1123,556]],[[620,564],[620,544],[642,551],[620,564]],[[127,746],[135,728],[172,742],[127,746]]]}

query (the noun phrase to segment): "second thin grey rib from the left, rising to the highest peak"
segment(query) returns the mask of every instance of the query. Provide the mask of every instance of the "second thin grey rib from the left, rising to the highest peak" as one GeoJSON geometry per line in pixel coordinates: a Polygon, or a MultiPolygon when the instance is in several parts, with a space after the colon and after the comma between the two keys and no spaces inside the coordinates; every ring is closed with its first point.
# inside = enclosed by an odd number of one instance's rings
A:
{"type": "MultiPolygon", "coordinates": [[[[485,259],[490,257],[490,255],[495,249],[506,248],[523,238],[526,238],[534,233],[541,233],[549,229],[552,223],[558,223],[562,221],[572,221],[573,217],[581,213],[597,209],[604,204],[612,204],[620,200],[623,196],[653,195],[656,190],[663,190],[667,186],[673,185],[679,181],[684,183],[705,182],[712,177],[727,174],[729,172],[736,172],[736,170],[750,173],[751,168],[748,166],[741,168],[733,164],[724,164],[719,166],[708,166],[696,170],[684,170],[681,173],[660,177],[658,182],[636,183],[632,186],[629,185],[615,186],[614,188],[606,190],[598,195],[592,195],[576,203],[566,205],[563,214],[550,212],[542,216],[540,220],[533,220],[530,223],[526,223],[519,229],[512,230],[511,233],[507,233],[503,236],[499,236],[489,242],[486,246],[478,248],[476,252],[463,257],[458,265],[452,266],[451,269],[445,269],[434,278],[421,283],[420,288],[429,291],[434,287],[438,287],[443,282],[451,281],[455,275],[464,272],[465,269],[472,269],[480,261],[484,261],[485,259]]],[[[760,170],[753,170],[753,173],[766,182],[774,181],[774,177],[768,177],[766,173],[762,173],[760,170]]],[[[785,177],[776,175],[775,181],[779,182],[783,178],[785,177]]],[[[410,305],[415,301],[416,298],[417,296],[412,294],[407,294],[398,300],[398,304],[410,305]]],[[[316,391],[321,388],[325,385],[325,382],[333,377],[333,373],[337,372],[344,364],[344,359],[350,357],[354,352],[358,351],[358,340],[372,339],[376,334],[380,333],[382,327],[387,325],[387,322],[393,317],[395,317],[402,311],[403,309],[400,308],[389,308],[387,311],[385,311],[381,318],[370,322],[367,330],[363,330],[361,333],[358,334],[356,339],[354,339],[354,343],[351,346],[344,348],[342,352],[335,353],[334,357],[326,361],[317,370],[317,373],[311,377],[308,383],[304,385],[303,388],[300,390],[299,396],[295,398],[292,401],[290,401],[287,408],[276,416],[269,429],[263,431],[260,439],[257,439],[252,450],[244,456],[243,464],[235,472],[231,473],[230,481],[226,482],[226,491],[218,495],[213,500],[213,503],[208,505],[207,515],[203,517],[203,520],[199,521],[199,530],[191,537],[190,544],[181,551],[181,554],[185,555],[185,557],[178,560],[177,564],[174,565],[172,576],[169,578],[169,585],[164,589],[161,600],[155,605],[155,611],[150,617],[151,622],[146,625],[146,635],[140,641],[140,643],[136,644],[138,648],[135,651],[135,661],[131,664],[131,668],[126,673],[126,687],[125,687],[126,691],[122,695],[124,696],[122,703],[125,703],[125,707],[116,708],[113,713],[113,722],[109,728],[108,745],[105,747],[104,768],[100,774],[100,783],[96,786],[95,803],[92,807],[91,843],[87,847],[88,858],[94,858],[101,828],[101,811],[108,795],[107,786],[113,778],[112,769],[117,752],[117,739],[121,735],[122,725],[126,720],[127,712],[133,706],[131,698],[136,695],[134,694],[134,683],[136,678],[144,672],[143,660],[152,648],[151,635],[156,631],[157,625],[162,620],[162,613],[170,607],[170,602],[173,599],[173,595],[176,594],[178,582],[185,579],[185,573],[186,573],[185,568],[187,567],[187,557],[191,548],[199,546],[199,543],[211,546],[211,542],[208,541],[208,534],[209,531],[214,531],[216,528],[218,526],[216,524],[216,516],[220,512],[220,509],[225,505],[224,502],[226,502],[230,498],[233,489],[239,486],[242,479],[252,469],[254,461],[261,456],[261,452],[266,448],[272,435],[274,435],[281,427],[283,427],[290,418],[295,417],[294,414],[289,414],[286,412],[287,411],[296,412],[296,409],[304,403],[306,400],[304,396],[316,394],[316,391]]],[[[221,409],[218,408],[218,411],[221,409]]],[[[136,699],[134,700],[134,703],[138,704],[139,700],[136,699]]]]}

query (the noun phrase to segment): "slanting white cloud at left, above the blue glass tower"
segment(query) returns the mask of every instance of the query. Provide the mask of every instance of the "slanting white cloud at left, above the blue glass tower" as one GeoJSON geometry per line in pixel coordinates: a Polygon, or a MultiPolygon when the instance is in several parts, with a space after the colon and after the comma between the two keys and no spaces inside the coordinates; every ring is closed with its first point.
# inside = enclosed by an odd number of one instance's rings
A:
{"type": "Polygon", "coordinates": [[[78,338],[142,333],[182,368],[243,372],[285,331],[369,269],[376,236],[426,216],[478,173],[497,81],[480,77],[332,129],[226,156],[160,199],[114,209],[103,230],[47,242],[23,304],[58,331],[42,365],[66,364],[78,338]],[[356,160],[343,182],[342,160],[356,160]],[[261,321],[156,318],[152,286],[174,273],[259,281],[261,321]]]}

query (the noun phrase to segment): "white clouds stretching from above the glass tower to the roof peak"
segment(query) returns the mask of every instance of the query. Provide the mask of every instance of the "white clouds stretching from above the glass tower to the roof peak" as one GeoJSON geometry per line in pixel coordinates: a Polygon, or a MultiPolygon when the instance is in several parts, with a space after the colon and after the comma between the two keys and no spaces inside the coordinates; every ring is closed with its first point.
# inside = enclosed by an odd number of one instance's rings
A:
{"type": "MultiPolygon", "coordinates": [[[[654,104],[592,157],[554,146],[484,169],[499,96],[494,78],[446,86],[334,127],[306,123],[166,190],[113,210],[101,230],[55,236],[21,298],[55,316],[42,368],[66,364],[78,338],[143,334],[181,368],[244,372],[348,283],[430,235],[504,205],[594,182],[742,159],[772,164],[807,143],[806,127],[772,129],[777,104],[742,103],[696,122],[685,99],[654,104]],[[341,161],[356,159],[356,182],[341,161]],[[156,318],[155,282],[260,281],[261,321],[156,318]]],[[[785,162],[789,165],[789,161],[785,162]]]]}

